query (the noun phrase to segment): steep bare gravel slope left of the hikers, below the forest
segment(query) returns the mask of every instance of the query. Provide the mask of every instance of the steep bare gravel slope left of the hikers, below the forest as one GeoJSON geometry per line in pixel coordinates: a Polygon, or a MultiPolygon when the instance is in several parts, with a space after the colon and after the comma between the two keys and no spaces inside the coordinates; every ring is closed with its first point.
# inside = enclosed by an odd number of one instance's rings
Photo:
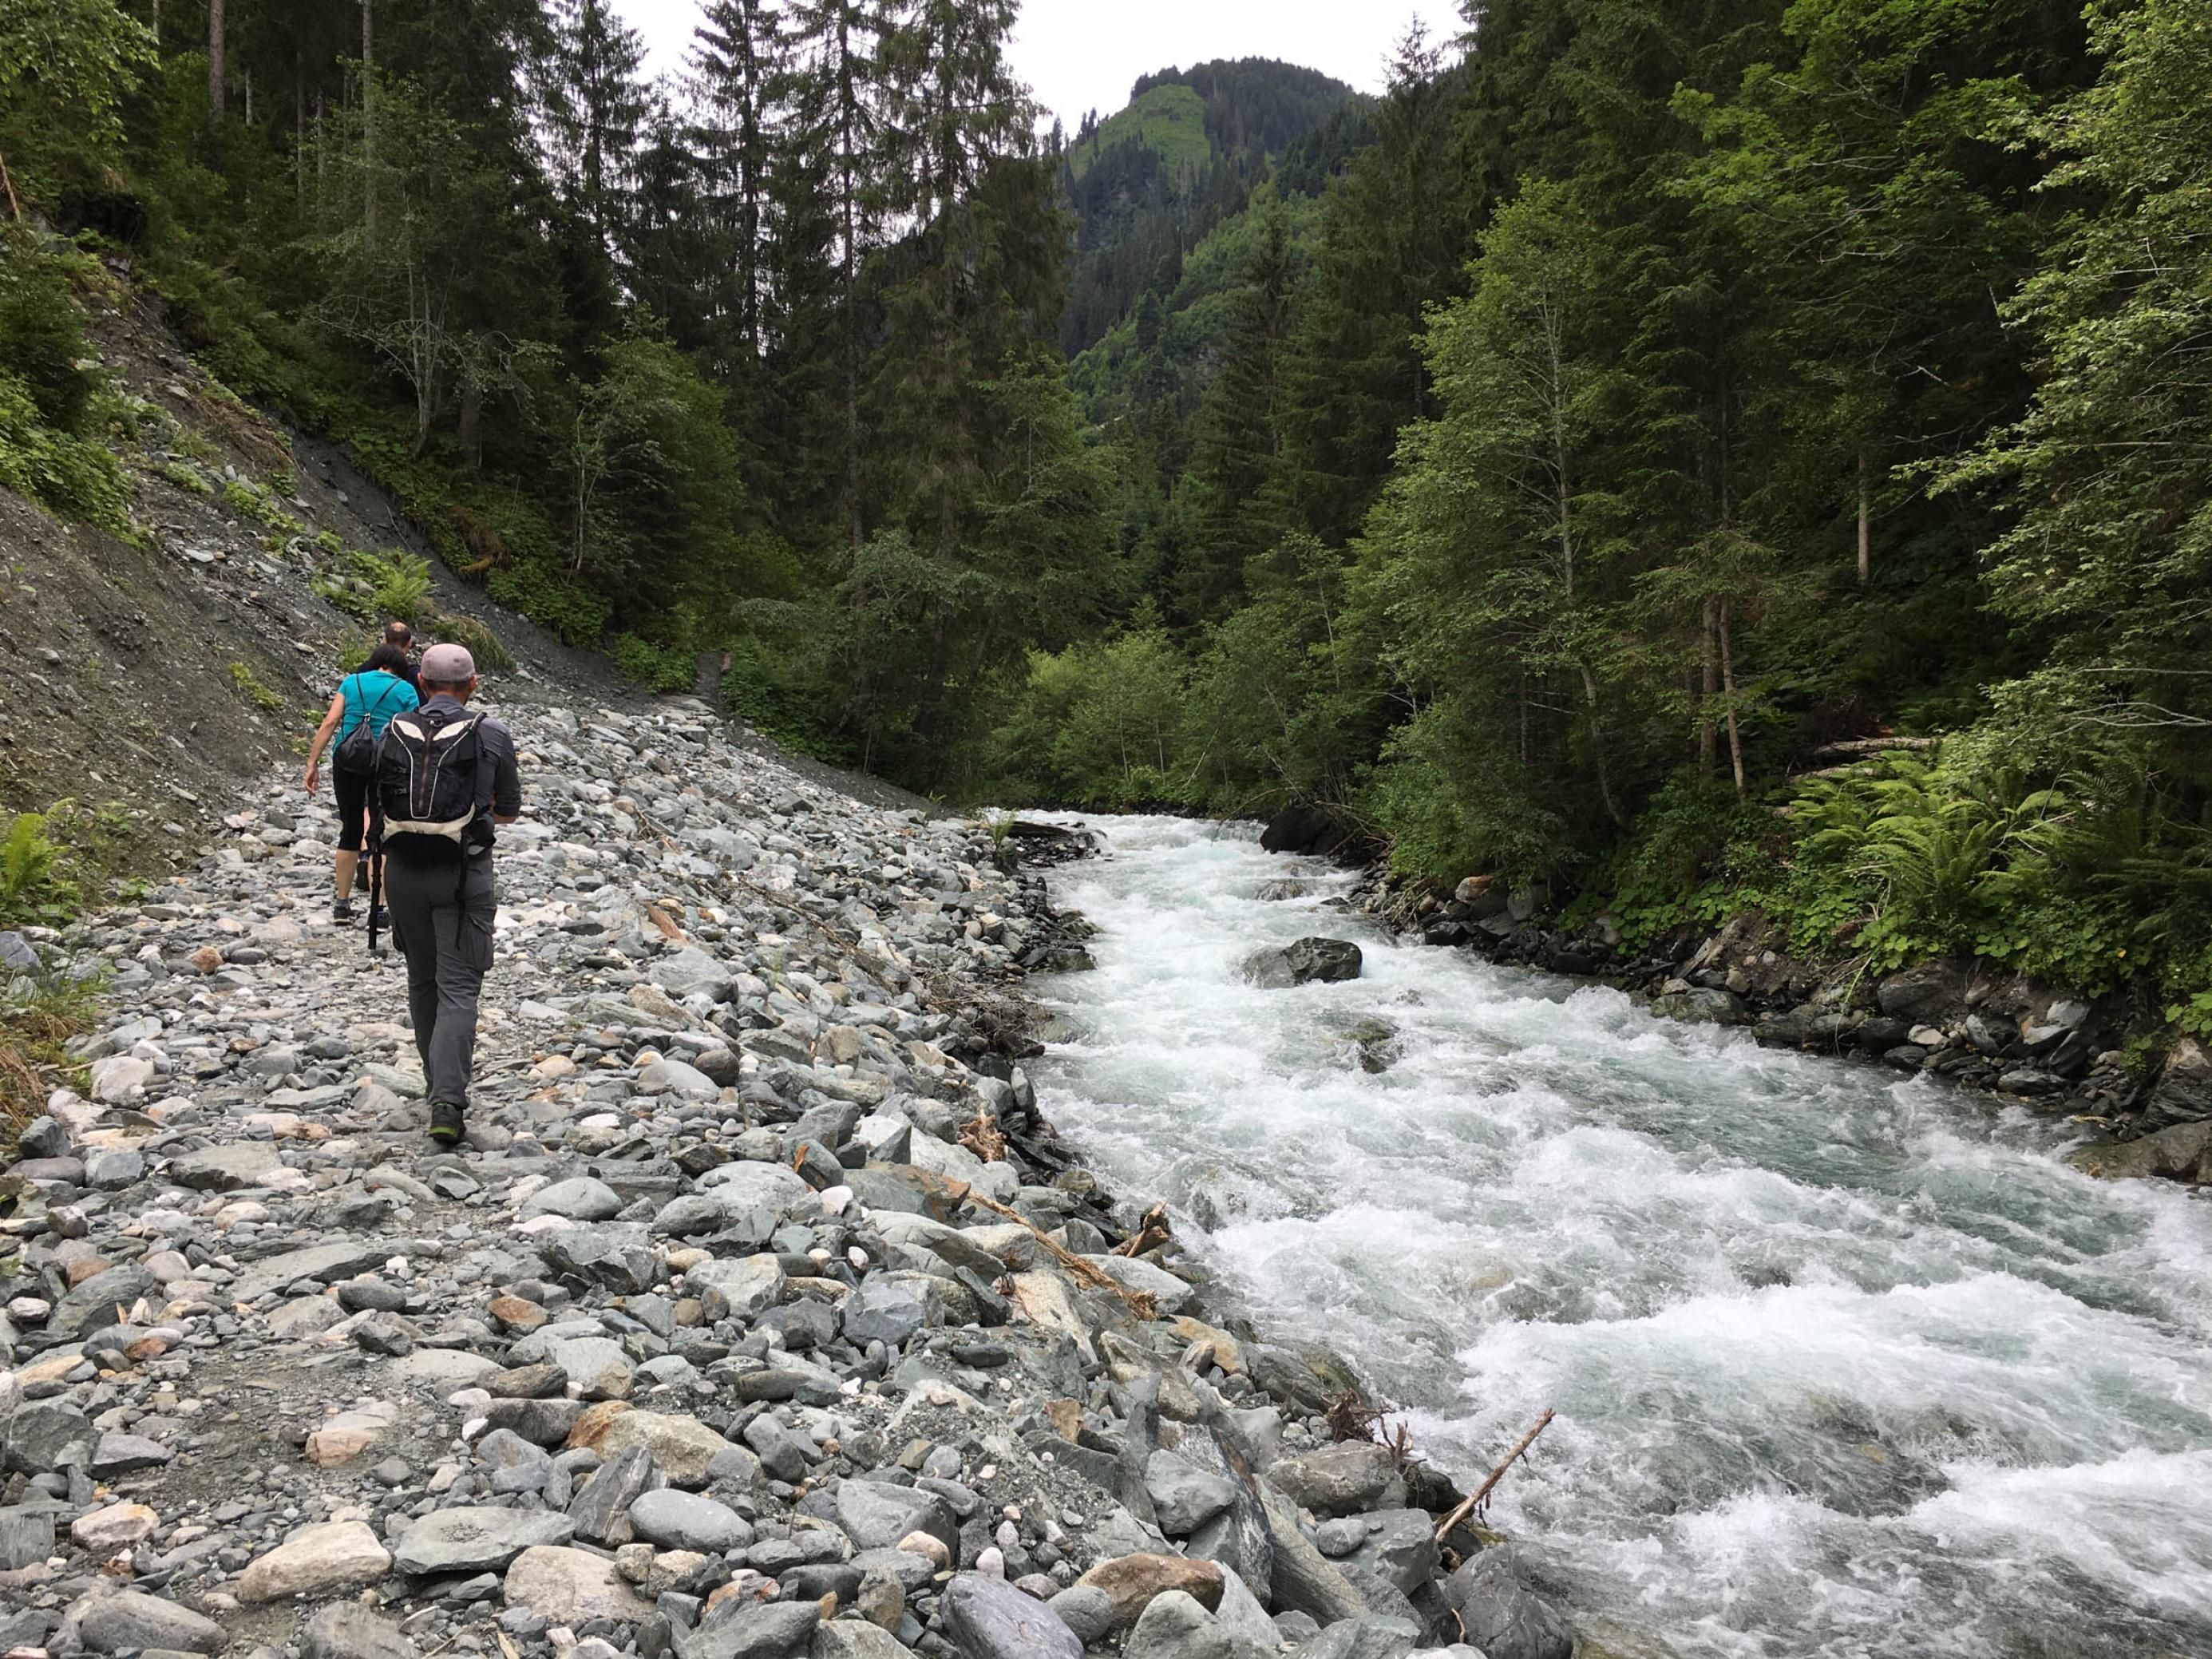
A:
{"type": "MultiPolygon", "coordinates": [[[[422,637],[476,641],[476,624],[522,684],[644,706],[604,657],[451,577],[343,449],[241,405],[177,347],[157,301],[124,285],[111,299],[88,323],[102,376],[135,400],[117,445],[133,538],[55,524],[0,491],[0,810],[71,801],[104,816],[126,867],[190,863],[217,803],[303,750],[336,675],[400,597],[380,591],[374,560],[389,551],[427,562],[403,602],[422,637]]],[[[867,801],[927,805],[792,765],[867,801]]]]}

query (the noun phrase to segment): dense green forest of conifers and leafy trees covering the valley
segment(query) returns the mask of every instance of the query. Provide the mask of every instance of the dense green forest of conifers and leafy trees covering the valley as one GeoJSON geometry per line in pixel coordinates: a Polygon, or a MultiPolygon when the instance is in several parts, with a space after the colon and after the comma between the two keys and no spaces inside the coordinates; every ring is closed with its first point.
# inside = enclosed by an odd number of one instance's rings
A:
{"type": "Polygon", "coordinates": [[[2212,7],[1484,0],[1040,137],[1013,0],[0,0],[0,482],[161,294],[460,571],[951,799],[1316,803],[2212,1029],[2212,7]]]}

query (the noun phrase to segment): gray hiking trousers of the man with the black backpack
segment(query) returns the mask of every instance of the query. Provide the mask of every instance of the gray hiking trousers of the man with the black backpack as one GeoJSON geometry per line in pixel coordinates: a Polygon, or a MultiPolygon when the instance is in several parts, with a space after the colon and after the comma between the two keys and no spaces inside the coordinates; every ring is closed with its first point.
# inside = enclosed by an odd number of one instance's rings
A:
{"type": "Polygon", "coordinates": [[[456,865],[385,863],[392,942],[407,958],[407,1013],[434,1102],[469,1104],[476,1002],[491,967],[491,854],[456,865]]]}

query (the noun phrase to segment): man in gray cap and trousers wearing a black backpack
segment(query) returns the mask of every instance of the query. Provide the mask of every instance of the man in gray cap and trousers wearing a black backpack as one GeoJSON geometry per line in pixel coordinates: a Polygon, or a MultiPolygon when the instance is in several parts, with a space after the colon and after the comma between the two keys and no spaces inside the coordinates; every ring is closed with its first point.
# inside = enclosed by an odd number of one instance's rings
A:
{"type": "Polygon", "coordinates": [[[522,776],[509,730],[467,706],[476,695],[467,650],[431,646],[420,677],[422,706],[396,714],[378,745],[376,807],[392,938],[407,958],[407,1009],[429,1079],[429,1135],[453,1146],[498,914],[493,825],[522,812],[522,776]]]}

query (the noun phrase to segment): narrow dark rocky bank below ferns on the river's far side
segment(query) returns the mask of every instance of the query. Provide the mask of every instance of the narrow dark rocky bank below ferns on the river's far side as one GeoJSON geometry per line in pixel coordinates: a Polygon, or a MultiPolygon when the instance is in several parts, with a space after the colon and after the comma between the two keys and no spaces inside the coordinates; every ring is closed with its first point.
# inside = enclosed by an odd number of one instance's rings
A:
{"type": "Polygon", "coordinates": [[[1982,962],[1920,962],[1898,973],[1807,962],[1759,914],[1632,949],[1608,920],[1559,925],[1544,891],[1482,878],[1449,898],[1369,872],[1354,898],[1425,945],[1597,978],[1655,1013],[1743,1026],[1763,1044],[1929,1073],[2088,1124],[2073,1161],[2093,1175],[2212,1181],[2212,1053],[2174,1035],[2148,1077],[2119,1048],[2124,1011],[1982,962]]]}

